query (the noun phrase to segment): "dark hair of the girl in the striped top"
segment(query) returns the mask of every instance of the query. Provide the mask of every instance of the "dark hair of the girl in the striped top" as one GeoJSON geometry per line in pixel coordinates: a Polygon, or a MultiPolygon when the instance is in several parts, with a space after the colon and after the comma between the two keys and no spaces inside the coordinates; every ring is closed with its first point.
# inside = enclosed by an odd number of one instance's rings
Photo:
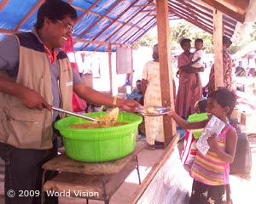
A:
{"type": "Polygon", "coordinates": [[[215,91],[212,91],[208,98],[215,99],[221,107],[230,107],[230,112],[228,116],[230,117],[235,105],[236,105],[236,94],[234,94],[228,88],[218,88],[215,91]]]}

